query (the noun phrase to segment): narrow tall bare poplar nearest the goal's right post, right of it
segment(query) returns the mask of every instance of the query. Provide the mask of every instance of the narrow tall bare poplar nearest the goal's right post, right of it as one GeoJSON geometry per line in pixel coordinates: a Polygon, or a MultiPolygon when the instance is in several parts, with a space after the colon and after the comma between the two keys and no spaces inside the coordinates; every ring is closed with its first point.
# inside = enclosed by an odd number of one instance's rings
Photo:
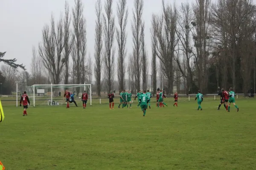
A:
{"type": "Polygon", "coordinates": [[[102,4],[101,0],[97,0],[95,4],[96,11],[96,27],[95,27],[95,45],[94,45],[94,76],[97,85],[97,94],[100,96],[101,76],[102,76],[102,4]]]}

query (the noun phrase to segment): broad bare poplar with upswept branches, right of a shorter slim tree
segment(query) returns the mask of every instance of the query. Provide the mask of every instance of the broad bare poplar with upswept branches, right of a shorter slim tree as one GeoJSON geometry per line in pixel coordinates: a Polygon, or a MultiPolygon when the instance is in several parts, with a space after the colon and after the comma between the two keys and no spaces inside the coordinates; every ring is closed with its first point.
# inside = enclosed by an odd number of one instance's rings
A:
{"type": "Polygon", "coordinates": [[[178,42],[176,39],[177,9],[171,4],[165,5],[163,1],[162,4],[162,16],[153,15],[152,22],[157,37],[157,57],[160,59],[161,69],[167,79],[166,94],[171,94],[173,90],[173,60],[178,42]]]}

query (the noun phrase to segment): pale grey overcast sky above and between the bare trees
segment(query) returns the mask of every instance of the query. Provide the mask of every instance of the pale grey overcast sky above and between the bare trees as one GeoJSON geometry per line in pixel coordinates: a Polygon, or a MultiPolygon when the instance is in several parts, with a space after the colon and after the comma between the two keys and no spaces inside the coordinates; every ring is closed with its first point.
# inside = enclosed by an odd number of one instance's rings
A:
{"type": "MultiPolygon", "coordinates": [[[[83,0],[84,16],[87,20],[87,54],[93,57],[94,53],[94,29],[95,29],[95,1],[83,0]]],[[[113,0],[113,11],[116,15],[116,2],[113,0]]],[[[143,20],[145,21],[145,42],[148,57],[151,58],[150,26],[151,15],[160,13],[162,0],[144,0],[143,20]]],[[[174,3],[174,0],[165,0],[166,3],[174,3]]],[[[182,2],[195,2],[195,0],[177,0],[176,5],[182,2]]],[[[70,10],[74,6],[74,0],[68,0],[70,10]]],[[[132,51],[131,19],[133,0],[127,0],[128,5],[128,54],[132,51]]],[[[51,13],[58,19],[64,12],[65,0],[0,0],[0,51],[6,52],[6,59],[17,58],[18,63],[26,65],[30,71],[32,57],[32,45],[38,46],[41,41],[41,30],[49,24],[51,13]]],[[[102,0],[104,4],[104,0],[102,0]]],[[[70,11],[71,12],[71,11],[70,11]]],[[[116,23],[117,26],[117,23],[116,23]]],[[[93,59],[94,60],[94,59],[93,59]]]]}

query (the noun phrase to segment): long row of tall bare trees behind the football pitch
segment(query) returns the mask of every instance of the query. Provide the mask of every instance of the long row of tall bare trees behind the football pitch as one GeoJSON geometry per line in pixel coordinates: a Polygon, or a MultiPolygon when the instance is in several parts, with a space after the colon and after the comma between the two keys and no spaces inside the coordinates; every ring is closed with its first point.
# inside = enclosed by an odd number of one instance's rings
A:
{"type": "Polygon", "coordinates": [[[151,18],[150,57],[145,48],[143,0],[134,0],[130,14],[133,50],[128,54],[127,1],[118,0],[116,13],[112,5],[113,0],[105,0],[104,6],[101,0],[95,3],[93,64],[86,51],[83,4],[75,0],[70,14],[66,2],[64,17],[57,22],[51,17],[50,25],[42,30],[38,50],[32,50],[30,81],[92,83],[94,74],[98,95],[110,92],[114,85],[134,92],[146,89],[151,85],[149,74],[153,90],[160,85],[169,94],[174,86],[180,91],[180,85],[186,94],[198,89],[215,93],[218,86],[246,93],[255,86],[256,6],[252,0],[195,0],[181,6],[163,0],[161,13],[151,18]],[[127,59],[131,62],[128,68],[127,59]]]}

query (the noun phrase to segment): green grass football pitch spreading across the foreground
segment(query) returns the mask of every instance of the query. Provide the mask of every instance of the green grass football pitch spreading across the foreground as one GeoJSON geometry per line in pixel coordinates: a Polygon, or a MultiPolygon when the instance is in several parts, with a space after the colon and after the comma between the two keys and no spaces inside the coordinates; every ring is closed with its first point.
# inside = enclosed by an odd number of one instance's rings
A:
{"type": "Polygon", "coordinates": [[[256,168],[256,99],[236,99],[240,110],[232,106],[230,113],[223,106],[217,111],[219,100],[206,98],[203,111],[193,99],[181,99],[178,108],[173,99],[165,102],[168,108],[152,103],[145,117],[137,103],[114,110],[107,104],[31,107],[28,116],[4,107],[0,161],[6,170],[256,168]]]}

